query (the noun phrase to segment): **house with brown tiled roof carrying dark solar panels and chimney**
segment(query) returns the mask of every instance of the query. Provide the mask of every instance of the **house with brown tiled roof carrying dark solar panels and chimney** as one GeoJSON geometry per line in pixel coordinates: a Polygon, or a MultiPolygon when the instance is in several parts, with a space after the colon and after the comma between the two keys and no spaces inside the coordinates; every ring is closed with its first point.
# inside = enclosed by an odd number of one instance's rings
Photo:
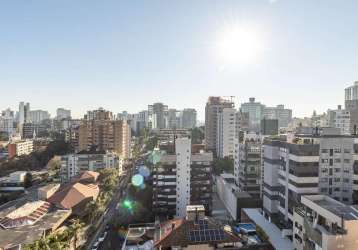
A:
{"type": "Polygon", "coordinates": [[[241,239],[231,231],[231,227],[220,225],[213,218],[206,217],[202,205],[187,206],[185,218],[160,224],[154,243],[156,249],[220,249],[241,246],[241,239]]]}

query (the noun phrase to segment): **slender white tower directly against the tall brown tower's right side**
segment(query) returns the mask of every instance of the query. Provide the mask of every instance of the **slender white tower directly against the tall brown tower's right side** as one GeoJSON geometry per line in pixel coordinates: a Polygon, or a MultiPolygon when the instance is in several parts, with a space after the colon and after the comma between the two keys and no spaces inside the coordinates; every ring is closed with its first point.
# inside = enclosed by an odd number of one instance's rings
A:
{"type": "Polygon", "coordinates": [[[217,119],[217,157],[234,157],[236,136],[236,110],[234,108],[223,108],[218,113],[217,119]]]}

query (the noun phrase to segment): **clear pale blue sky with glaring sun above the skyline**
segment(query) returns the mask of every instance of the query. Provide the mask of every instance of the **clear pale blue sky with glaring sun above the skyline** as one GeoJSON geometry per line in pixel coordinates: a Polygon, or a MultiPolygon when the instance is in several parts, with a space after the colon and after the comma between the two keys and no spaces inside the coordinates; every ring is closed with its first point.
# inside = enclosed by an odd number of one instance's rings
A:
{"type": "Polygon", "coordinates": [[[358,80],[357,9],[355,0],[1,1],[0,110],[26,101],[81,117],[164,102],[204,120],[214,95],[310,116],[343,104],[358,80]],[[236,29],[253,39],[223,56],[236,29]]]}

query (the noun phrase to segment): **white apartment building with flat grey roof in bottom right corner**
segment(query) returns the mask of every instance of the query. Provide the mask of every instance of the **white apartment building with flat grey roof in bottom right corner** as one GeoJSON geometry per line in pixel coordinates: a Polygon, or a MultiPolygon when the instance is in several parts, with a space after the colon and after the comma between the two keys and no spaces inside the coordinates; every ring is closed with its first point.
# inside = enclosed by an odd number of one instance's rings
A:
{"type": "Polygon", "coordinates": [[[293,216],[293,245],[297,250],[358,249],[358,207],[325,195],[301,197],[293,216]]]}

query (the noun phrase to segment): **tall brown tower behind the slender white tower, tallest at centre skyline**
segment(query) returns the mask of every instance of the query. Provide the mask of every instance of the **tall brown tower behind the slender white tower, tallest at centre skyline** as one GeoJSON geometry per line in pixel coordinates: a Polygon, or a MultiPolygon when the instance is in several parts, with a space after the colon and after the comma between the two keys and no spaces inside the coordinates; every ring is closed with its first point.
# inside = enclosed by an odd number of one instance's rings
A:
{"type": "Polygon", "coordinates": [[[224,108],[234,108],[232,100],[219,96],[211,96],[205,106],[205,146],[216,154],[218,116],[224,108]]]}

